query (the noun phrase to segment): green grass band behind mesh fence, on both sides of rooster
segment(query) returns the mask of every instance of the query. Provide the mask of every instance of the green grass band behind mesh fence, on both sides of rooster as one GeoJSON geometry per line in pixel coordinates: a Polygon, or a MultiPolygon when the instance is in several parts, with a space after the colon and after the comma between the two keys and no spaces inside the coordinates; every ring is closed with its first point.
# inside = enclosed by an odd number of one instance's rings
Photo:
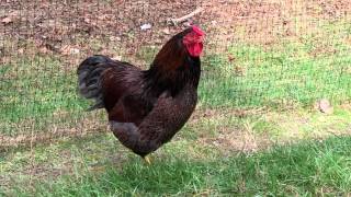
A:
{"type": "MultiPolygon", "coordinates": [[[[330,22],[318,34],[282,38],[268,46],[234,43],[227,53],[208,55],[203,58],[199,105],[280,109],[312,106],[322,97],[336,104],[349,101],[351,48],[346,40],[350,30],[330,22]]],[[[136,56],[150,61],[154,53],[155,48],[144,47],[136,56]]],[[[1,134],[48,131],[48,125],[65,127],[82,119],[89,103],[77,95],[78,62],[63,63],[63,58],[54,56],[13,59],[0,68],[4,79],[0,88],[5,90],[0,94],[1,134]]]]}

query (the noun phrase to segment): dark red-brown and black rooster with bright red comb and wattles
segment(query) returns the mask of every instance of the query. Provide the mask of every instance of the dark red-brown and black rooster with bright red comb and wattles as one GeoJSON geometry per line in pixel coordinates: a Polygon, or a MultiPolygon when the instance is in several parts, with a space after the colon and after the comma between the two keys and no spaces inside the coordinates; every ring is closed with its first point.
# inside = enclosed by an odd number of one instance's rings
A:
{"type": "Polygon", "coordinates": [[[105,108],[114,136],[147,163],[195,108],[203,38],[195,25],[178,33],[148,70],[98,55],[78,67],[79,93],[95,101],[89,109],[105,108]]]}

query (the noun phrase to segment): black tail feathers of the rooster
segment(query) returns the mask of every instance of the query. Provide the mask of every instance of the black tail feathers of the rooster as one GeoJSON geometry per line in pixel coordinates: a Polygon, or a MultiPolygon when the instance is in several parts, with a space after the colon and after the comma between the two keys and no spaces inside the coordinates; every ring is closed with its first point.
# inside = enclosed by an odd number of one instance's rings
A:
{"type": "Polygon", "coordinates": [[[95,100],[95,104],[88,108],[93,111],[97,108],[103,108],[103,94],[100,84],[101,73],[109,68],[109,62],[113,60],[105,56],[92,56],[87,58],[78,67],[78,91],[86,99],[95,100]]]}

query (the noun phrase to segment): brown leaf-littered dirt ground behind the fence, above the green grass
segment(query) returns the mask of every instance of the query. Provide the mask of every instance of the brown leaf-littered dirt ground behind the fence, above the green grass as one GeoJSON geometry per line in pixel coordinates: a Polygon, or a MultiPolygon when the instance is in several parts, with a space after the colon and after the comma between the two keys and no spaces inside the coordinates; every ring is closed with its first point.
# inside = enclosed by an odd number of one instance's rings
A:
{"type": "Polygon", "coordinates": [[[135,56],[184,28],[184,23],[174,26],[169,19],[199,7],[204,11],[190,21],[205,28],[208,50],[223,50],[235,39],[271,44],[310,31],[319,20],[347,18],[351,11],[347,0],[12,0],[1,2],[1,56],[33,53],[31,47],[39,54],[135,56]],[[143,24],[151,28],[141,31],[143,24]]]}

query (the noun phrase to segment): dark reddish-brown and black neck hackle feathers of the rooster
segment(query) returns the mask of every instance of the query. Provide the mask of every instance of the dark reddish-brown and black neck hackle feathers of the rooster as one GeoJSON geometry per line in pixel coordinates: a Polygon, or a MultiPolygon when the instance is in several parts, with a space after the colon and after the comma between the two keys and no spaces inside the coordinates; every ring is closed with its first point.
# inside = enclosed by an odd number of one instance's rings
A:
{"type": "Polygon", "coordinates": [[[145,71],[146,89],[154,93],[169,90],[176,95],[185,84],[197,88],[200,58],[191,57],[182,39],[191,30],[185,30],[163,45],[156,55],[150,69],[145,71]]]}

